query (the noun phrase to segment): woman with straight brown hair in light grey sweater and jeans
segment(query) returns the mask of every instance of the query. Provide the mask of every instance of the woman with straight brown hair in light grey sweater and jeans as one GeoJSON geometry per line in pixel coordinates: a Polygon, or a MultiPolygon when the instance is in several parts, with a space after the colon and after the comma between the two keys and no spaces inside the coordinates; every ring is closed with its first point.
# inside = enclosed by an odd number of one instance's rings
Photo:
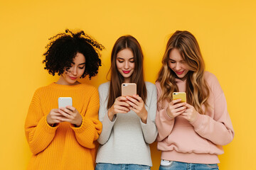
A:
{"type": "Polygon", "coordinates": [[[110,72],[110,82],[99,87],[102,133],[96,169],[150,169],[149,144],[157,135],[156,86],[144,81],[142,49],[131,35],[115,42],[110,72]],[[137,84],[137,95],[121,96],[122,83],[137,84]]]}

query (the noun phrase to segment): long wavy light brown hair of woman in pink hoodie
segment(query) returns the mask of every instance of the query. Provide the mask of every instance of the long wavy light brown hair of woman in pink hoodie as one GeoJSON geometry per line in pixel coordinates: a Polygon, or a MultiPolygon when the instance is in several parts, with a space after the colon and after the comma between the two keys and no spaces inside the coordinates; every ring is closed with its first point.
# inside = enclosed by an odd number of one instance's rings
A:
{"type": "Polygon", "coordinates": [[[210,91],[206,80],[203,77],[205,64],[196,38],[188,31],[177,30],[169,39],[162,60],[162,67],[157,81],[161,84],[163,90],[159,101],[167,99],[172,101],[172,93],[178,91],[175,79],[176,73],[169,67],[169,54],[176,48],[188,64],[188,73],[186,75],[186,94],[187,103],[191,104],[198,113],[204,114],[202,106],[208,108],[207,99],[210,91]]]}

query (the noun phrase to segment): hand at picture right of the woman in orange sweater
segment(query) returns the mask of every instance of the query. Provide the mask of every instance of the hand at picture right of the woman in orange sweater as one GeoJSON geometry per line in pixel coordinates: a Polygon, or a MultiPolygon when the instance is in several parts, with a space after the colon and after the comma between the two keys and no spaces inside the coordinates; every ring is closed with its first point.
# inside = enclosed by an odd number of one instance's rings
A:
{"type": "Polygon", "coordinates": [[[60,108],[60,113],[65,117],[61,120],[63,122],[68,122],[80,127],[82,125],[82,115],[73,106],[66,106],[65,108],[60,108]]]}

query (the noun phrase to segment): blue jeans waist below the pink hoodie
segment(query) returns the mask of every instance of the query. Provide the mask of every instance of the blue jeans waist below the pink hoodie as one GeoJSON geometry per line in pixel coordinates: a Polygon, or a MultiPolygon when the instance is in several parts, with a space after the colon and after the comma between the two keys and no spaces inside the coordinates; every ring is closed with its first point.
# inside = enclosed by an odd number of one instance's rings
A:
{"type": "Polygon", "coordinates": [[[163,166],[160,165],[159,170],[218,170],[218,164],[190,164],[185,162],[174,162],[171,164],[163,166]]]}

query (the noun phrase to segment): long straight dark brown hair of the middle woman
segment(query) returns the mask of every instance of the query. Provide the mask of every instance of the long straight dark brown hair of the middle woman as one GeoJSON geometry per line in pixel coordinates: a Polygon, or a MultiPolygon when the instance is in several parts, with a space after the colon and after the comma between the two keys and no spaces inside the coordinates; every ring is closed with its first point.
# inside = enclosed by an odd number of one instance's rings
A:
{"type": "Polygon", "coordinates": [[[137,84],[137,94],[145,102],[146,100],[146,85],[143,72],[143,53],[139,42],[132,35],[124,35],[114,43],[111,53],[111,78],[110,78],[110,94],[108,97],[107,108],[111,108],[115,99],[121,96],[121,84],[124,82],[124,77],[117,70],[117,53],[121,50],[129,48],[134,55],[134,72],[131,76],[131,83],[137,84]]]}

